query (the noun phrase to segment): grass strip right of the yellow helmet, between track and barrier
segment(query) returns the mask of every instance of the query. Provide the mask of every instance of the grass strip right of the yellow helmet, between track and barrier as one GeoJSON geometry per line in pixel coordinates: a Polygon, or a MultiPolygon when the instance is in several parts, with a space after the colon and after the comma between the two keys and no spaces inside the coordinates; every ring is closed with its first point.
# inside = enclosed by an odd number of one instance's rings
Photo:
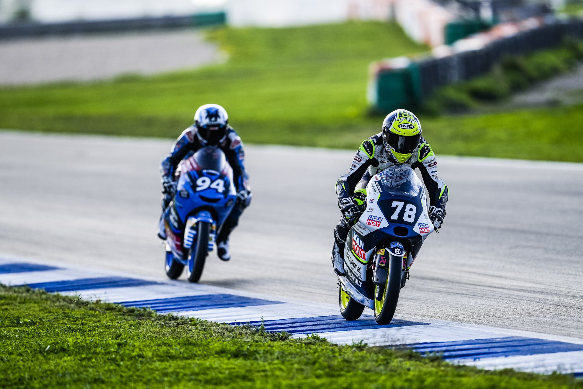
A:
{"type": "Polygon", "coordinates": [[[583,104],[423,122],[436,153],[583,162],[583,104]],[[568,123],[561,125],[560,123],[568,123]]]}

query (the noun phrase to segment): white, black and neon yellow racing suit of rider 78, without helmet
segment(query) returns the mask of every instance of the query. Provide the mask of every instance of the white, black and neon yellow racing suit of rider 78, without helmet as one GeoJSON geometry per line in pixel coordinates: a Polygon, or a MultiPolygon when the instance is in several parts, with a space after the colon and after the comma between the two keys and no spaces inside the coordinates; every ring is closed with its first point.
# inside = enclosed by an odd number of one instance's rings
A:
{"type": "MultiPolygon", "coordinates": [[[[336,183],[336,194],[338,194],[340,210],[343,211],[343,205],[349,204],[352,198],[360,206],[360,212],[363,212],[364,208],[366,208],[366,186],[368,181],[375,174],[395,164],[399,163],[392,155],[387,153],[383,146],[382,132],[364,141],[356,152],[348,173],[340,177],[336,183]]],[[[408,164],[413,169],[421,171],[423,183],[429,193],[430,219],[436,229],[439,228],[445,216],[448,189],[437,174],[436,156],[423,136],[420,138],[416,151],[402,164],[408,164]]],[[[352,209],[352,211],[354,210],[352,209]]],[[[335,246],[332,249],[332,261],[337,274],[342,274],[340,264],[343,265],[344,263],[343,255],[347,234],[359,216],[360,213],[355,216],[354,212],[349,215],[343,212],[340,222],[334,229],[335,246]]]]}

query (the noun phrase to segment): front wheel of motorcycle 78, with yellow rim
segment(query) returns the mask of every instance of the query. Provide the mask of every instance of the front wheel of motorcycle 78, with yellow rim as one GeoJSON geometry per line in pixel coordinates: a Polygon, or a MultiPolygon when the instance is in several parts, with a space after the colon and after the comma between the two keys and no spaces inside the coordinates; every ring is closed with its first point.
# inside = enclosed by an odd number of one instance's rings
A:
{"type": "MultiPolygon", "coordinates": [[[[381,301],[374,299],[374,319],[378,324],[389,324],[393,320],[397,302],[399,301],[399,292],[401,291],[401,276],[403,274],[403,258],[395,257],[391,254],[389,261],[389,271],[387,283],[385,283],[385,292],[382,293],[381,301]]],[[[379,286],[375,286],[375,296],[379,286]]]]}

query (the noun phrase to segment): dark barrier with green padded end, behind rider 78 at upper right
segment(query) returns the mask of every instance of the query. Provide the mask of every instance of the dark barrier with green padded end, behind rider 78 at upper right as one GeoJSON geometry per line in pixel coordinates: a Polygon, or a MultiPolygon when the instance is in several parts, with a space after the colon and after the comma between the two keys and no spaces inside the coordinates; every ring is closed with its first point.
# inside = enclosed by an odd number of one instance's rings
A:
{"type": "Polygon", "coordinates": [[[530,21],[530,27],[525,27],[528,22],[500,25],[489,33],[436,48],[431,57],[374,62],[370,68],[368,101],[380,112],[416,108],[438,87],[484,75],[507,55],[557,47],[567,37],[583,38],[583,20],[537,22],[537,26],[533,22],[530,21]]]}

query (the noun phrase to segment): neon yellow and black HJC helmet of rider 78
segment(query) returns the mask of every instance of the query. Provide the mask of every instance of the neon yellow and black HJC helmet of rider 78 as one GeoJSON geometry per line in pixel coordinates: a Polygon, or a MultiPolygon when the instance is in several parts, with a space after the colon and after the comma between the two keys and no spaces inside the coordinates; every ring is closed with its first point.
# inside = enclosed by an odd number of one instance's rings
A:
{"type": "Polygon", "coordinates": [[[419,147],[421,123],[408,110],[395,110],[382,122],[382,144],[388,155],[405,163],[419,147]]]}

